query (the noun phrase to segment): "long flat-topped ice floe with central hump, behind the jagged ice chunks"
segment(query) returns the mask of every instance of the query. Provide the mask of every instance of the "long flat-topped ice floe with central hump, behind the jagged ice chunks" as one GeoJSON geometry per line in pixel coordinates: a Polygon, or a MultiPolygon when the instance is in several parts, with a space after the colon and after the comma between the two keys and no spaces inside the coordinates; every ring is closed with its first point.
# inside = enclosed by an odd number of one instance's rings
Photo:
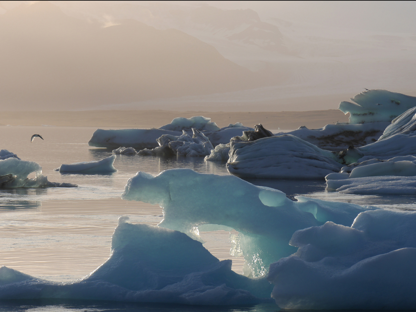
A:
{"type": "Polygon", "coordinates": [[[208,137],[211,144],[216,146],[218,144],[227,144],[233,136],[241,135],[243,131],[251,129],[240,123],[229,124],[220,129],[215,122],[210,120],[210,118],[203,116],[178,117],[173,119],[171,124],[158,129],[97,129],[88,144],[89,146],[111,149],[116,149],[119,146],[129,146],[136,150],[154,149],[159,146],[156,140],[162,135],[181,136],[183,131],[192,134],[192,128],[194,128],[201,131],[208,137]]]}

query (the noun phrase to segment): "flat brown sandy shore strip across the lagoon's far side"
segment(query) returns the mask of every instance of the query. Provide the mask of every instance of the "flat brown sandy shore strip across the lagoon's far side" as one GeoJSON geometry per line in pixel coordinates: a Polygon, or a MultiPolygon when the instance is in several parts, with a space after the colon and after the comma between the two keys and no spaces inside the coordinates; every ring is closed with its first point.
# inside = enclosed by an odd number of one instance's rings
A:
{"type": "Polygon", "coordinates": [[[348,121],[337,109],[280,112],[207,112],[207,111],[6,111],[0,125],[11,126],[94,126],[114,128],[158,128],[176,117],[205,116],[219,127],[241,122],[245,126],[262,124],[266,129],[321,128],[337,121],[348,121]]]}

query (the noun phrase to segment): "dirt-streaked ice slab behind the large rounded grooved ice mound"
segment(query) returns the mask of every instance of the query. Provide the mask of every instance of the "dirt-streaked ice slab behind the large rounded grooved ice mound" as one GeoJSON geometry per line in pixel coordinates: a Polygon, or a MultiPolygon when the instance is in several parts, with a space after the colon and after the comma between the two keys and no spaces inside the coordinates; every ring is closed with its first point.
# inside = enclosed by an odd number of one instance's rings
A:
{"type": "MultiPolygon", "coordinates": [[[[359,147],[379,139],[390,122],[371,122],[366,124],[327,124],[319,129],[300,127],[285,132],[329,151],[342,151],[349,146],[359,147]]],[[[283,132],[275,135],[282,135],[283,132]]]]}

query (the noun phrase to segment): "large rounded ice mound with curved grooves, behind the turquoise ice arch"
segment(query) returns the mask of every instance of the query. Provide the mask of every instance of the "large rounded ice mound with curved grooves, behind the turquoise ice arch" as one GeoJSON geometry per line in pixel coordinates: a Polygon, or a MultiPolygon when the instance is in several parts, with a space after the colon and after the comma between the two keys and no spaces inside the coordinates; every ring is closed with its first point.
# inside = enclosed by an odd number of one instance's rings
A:
{"type": "Polygon", "coordinates": [[[289,134],[231,142],[226,166],[240,177],[322,179],[339,172],[342,161],[336,153],[289,134]]]}

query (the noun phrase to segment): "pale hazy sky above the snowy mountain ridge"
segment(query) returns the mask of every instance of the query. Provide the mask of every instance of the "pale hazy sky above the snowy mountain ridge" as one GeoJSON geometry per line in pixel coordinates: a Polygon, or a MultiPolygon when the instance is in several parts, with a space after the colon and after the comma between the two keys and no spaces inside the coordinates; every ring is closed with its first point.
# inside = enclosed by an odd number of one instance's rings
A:
{"type": "MultiPolygon", "coordinates": [[[[147,2],[147,1],[144,1],[147,2]]],[[[172,1],[185,5],[188,1],[172,1]]],[[[190,1],[223,9],[250,8],[260,17],[384,32],[416,32],[416,1],[190,1]]],[[[188,2],[189,4],[189,2],[188,2]]]]}

